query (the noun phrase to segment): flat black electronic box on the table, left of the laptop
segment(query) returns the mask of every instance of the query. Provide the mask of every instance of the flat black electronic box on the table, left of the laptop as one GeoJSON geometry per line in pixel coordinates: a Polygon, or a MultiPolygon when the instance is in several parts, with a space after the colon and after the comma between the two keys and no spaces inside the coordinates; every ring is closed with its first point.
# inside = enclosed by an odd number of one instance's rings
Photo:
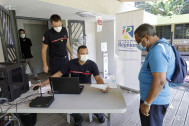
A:
{"type": "Polygon", "coordinates": [[[36,97],[30,102],[30,107],[49,107],[53,100],[53,96],[36,97]]]}

